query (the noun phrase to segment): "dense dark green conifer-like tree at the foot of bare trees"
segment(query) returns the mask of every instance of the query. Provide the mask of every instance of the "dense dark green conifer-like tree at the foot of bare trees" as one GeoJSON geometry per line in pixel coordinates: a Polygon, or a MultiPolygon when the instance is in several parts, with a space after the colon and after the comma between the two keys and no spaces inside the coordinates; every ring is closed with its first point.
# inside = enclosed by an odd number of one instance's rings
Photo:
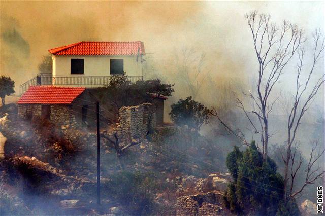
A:
{"type": "Polygon", "coordinates": [[[299,214],[295,200],[283,204],[283,178],[271,158],[263,160],[254,141],[244,152],[235,147],[228,154],[226,166],[234,181],[228,186],[224,199],[232,211],[245,215],[299,214]]]}

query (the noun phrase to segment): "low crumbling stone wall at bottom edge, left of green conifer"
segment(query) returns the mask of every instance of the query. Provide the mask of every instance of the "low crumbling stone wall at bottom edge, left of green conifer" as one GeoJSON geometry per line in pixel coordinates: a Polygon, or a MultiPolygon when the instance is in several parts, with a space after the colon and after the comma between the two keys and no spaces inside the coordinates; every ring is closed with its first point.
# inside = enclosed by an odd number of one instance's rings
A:
{"type": "Polygon", "coordinates": [[[221,196],[217,191],[178,197],[176,215],[223,215],[220,198],[221,196]]]}

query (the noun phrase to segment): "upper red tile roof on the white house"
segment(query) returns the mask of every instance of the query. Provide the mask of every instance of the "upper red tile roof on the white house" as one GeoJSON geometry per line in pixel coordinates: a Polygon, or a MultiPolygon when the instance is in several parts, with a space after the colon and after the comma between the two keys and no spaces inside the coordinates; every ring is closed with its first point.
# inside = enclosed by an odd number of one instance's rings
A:
{"type": "Polygon", "coordinates": [[[141,41],[131,42],[96,42],[82,41],[63,47],[50,49],[53,55],[145,55],[141,41]]]}

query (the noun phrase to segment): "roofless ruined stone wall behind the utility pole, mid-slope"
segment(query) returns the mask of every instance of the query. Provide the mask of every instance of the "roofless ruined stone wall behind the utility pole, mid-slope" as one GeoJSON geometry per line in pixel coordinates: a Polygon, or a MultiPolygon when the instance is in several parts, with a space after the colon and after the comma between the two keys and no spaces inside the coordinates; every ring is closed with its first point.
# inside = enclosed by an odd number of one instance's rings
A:
{"type": "Polygon", "coordinates": [[[144,137],[156,126],[155,106],[143,103],[137,106],[121,107],[118,123],[114,131],[120,142],[129,142],[136,137],[144,137]]]}

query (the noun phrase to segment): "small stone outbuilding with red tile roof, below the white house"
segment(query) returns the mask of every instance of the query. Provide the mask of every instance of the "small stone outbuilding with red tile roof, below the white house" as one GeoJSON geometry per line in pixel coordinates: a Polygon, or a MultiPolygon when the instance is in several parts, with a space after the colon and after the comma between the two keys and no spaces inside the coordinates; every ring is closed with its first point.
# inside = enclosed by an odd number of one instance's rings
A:
{"type": "Polygon", "coordinates": [[[30,86],[18,101],[18,116],[76,128],[95,125],[95,97],[84,87],[30,86]]]}

